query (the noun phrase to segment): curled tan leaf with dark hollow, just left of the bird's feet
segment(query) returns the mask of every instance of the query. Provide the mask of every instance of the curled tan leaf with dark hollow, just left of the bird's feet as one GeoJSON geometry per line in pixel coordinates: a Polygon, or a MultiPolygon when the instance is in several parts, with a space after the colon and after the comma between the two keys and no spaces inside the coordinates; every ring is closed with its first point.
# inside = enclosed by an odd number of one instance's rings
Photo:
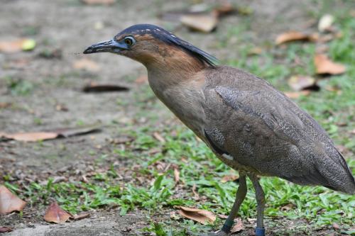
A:
{"type": "Polygon", "coordinates": [[[195,208],[187,208],[185,206],[179,206],[179,214],[189,218],[190,220],[195,220],[202,224],[212,224],[216,220],[216,215],[209,210],[200,210],[195,208]]]}

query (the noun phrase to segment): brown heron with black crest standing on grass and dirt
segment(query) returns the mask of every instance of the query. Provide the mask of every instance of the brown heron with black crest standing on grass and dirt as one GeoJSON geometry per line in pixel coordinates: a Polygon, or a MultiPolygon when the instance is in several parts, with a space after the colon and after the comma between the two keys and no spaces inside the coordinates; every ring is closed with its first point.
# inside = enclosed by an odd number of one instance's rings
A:
{"type": "Polygon", "coordinates": [[[266,80],[218,65],[216,57],[151,24],[130,26],[84,54],[111,52],[141,62],[154,94],[224,164],[239,172],[236,199],[221,230],[229,235],[247,192],[256,193],[256,236],[265,235],[259,179],[355,193],[354,176],[326,131],[266,80]]]}

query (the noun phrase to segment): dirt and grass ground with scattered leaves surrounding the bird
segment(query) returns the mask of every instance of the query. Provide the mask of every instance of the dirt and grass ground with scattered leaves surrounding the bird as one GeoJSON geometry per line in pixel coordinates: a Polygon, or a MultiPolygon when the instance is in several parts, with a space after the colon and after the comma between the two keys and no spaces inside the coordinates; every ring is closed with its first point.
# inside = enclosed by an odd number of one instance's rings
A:
{"type": "MultiPolygon", "coordinates": [[[[27,203],[1,216],[9,235],[199,235],[222,225],[238,173],[155,98],[141,64],[82,54],[136,23],[271,82],[327,130],[354,170],[355,1],[1,0],[0,184],[27,203]],[[48,225],[53,201],[87,215],[48,225]]],[[[354,196],[262,184],[270,235],[354,233],[354,196]]],[[[253,233],[255,207],[251,190],[235,232],[253,233]]]]}

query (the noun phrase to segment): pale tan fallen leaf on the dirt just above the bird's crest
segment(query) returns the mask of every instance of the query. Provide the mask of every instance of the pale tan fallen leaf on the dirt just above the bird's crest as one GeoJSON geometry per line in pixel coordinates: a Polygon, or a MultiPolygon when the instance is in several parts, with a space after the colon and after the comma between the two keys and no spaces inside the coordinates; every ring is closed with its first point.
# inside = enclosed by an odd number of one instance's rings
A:
{"type": "Polygon", "coordinates": [[[209,33],[216,28],[218,18],[216,13],[195,13],[181,16],[183,25],[204,33],[209,33]]]}

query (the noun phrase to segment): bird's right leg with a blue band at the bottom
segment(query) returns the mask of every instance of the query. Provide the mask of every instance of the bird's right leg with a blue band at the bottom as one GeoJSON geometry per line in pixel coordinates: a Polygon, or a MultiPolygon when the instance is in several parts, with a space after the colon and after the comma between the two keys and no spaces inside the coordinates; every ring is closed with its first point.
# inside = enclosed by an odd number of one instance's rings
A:
{"type": "Polygon", "coordinates": [[[265,236],[265,228],[263,223],[264,208],[265,208],[265,194],[263,188],[261,188],[261,185],[259,184],[258,177],[253,174],[250,174],[248,176],[251,182],[253,183],[255,189],[256,203],[258,203],[258,206],[256,207],[256,210],[258,211],[258,218],[256,221],[255,235],[265,236]]]}

